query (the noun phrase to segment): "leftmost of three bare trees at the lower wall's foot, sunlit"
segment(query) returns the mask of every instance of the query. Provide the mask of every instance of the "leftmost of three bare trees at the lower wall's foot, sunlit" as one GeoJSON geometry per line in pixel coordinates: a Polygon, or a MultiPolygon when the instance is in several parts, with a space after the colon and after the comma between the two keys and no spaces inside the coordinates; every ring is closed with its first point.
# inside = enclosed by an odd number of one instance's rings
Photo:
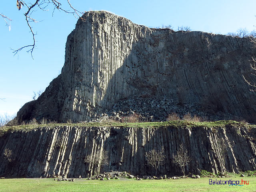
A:
{"type": "MultiPolygon", "coordinates": [[[[108,152],[106,151],[97,151],[95,153],[95,155],[90,154],[90,155],[86,155],[84,162],[86,163],[92,163],[96,169],[96,174],[97,177],[100,174],[100,167],[103,165],[107,165],[108,164],[108,152]]],[[[90,170],[89,170],[90,171],[90,170]]]]}

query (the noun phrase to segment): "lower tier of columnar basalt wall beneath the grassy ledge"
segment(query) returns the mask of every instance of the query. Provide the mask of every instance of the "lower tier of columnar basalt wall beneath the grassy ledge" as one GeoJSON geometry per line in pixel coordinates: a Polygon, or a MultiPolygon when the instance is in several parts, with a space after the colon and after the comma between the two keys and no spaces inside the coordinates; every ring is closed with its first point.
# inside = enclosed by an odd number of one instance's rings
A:
{"type": "Polygon", "coordinates": [[[77,127],[38,128],[7,132],[0,137],[0,176],[78,178],[93,174],[87,154],[106,151],[109,164],[101,172],[126,171],[134,175],[153,175],[145,153],[164,147],[164,164],[158,174],[181,173],[173,163],[180,144],[191,158],[186,172],[239,172],[256,169],[256,148],[246,127],[162,126],[158,128],[77,127]],[[224,146],[224,150],[223,149],[224,146]],[[11,162],[4,150],[12,151],[11,162]],[[90,171],[89,171],[90,170],[90,171]]]}

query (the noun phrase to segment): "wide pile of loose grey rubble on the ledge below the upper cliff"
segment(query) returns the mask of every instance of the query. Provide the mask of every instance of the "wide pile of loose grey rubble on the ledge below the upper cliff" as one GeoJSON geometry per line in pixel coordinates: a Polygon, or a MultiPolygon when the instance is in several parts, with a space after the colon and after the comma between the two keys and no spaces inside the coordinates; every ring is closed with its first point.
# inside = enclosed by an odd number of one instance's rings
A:
{"type": "Polygon", "coordinates": [[[198,116],[202,120],[236,120],[238,117],[226,114],[224,112],[215,112],[211,114],[210,110],[204,110],[204,107],[198,103],[180,104],[176,99],[166,97],[149,97],[145,93],[132,96],[131,98],[120,100],[114,104],[112,109],[97,111],[95,118],[90,122],[101,122],[107,120],[122,121],[122,117],[138,114],[140,122],[166,121],[168,114],[176,113],[181,119],[185,114],[198,116]]]}

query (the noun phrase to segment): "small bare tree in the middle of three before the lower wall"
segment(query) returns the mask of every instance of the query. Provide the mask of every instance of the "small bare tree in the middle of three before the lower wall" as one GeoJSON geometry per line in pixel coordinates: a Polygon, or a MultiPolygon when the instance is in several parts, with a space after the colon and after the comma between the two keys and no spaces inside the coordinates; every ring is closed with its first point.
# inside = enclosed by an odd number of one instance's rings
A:
{"type": "Polygon", "coordinates": [[[165,159],[164,147],[162,146],[160,151],[151,150],[145,154],[148,164],[155,169],[155,175],[157,174],[158,166],[162,165],[165,159]]]}

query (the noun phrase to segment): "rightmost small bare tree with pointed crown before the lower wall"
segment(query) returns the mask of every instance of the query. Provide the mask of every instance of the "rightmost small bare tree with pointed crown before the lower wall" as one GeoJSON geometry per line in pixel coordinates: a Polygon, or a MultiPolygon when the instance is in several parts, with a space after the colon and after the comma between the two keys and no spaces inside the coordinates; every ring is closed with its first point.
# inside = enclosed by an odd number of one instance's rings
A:
{"type": "Polygon", "coordinates": [[[172,156],[174,158],[173,162],[181,167],[183,175],[185,176],[185,166],[190,162],[190,157],[188,156],[188,150],[185,149],[183,143],[180,144],[177,154],[172,154],[172,156]]]}

